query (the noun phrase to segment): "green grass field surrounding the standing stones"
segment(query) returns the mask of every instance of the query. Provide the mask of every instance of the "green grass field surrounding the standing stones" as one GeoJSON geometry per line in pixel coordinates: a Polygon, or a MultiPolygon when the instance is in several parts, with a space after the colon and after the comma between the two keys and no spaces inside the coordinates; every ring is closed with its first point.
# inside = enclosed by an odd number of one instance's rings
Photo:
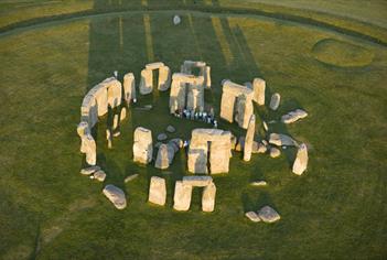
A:
{"type": "MultiPolygon", "coordinates": [[[[303,9],[301,0],[293,6],[138,0],[122,4],[121,12],[120,1],[107,2],[0,1],[0,259],[386,258],[385,2],[351,1],[346,9],[343,1],[315,1],[303,9]],[[250,11],[240,12],[246,7],[250,11]],[[179,26],[172,9],[185,9],[178,12],[179,26]],[[332,26],[261,11],[315,14],[332,26]],[[62,13],[69,15],[57,17],[62,13]],[[305,109],[308,118],[272,124],[269,132],[308,143],[308,172],[291,173],[292,150],[279,159],[255,154],[249,163],[235,152],[230,172],[214,176],[214,213],[202,213],[200,189],[190,212],[174,212],[174,182],[189,174],[185,154],[178,153],[168,171],[138,165],[133,129],[150,128],[155,139],[173,124],[172,137],[189,139],[192,129],[206,124],[169,116],[169,94],[154,91],[139,97],[139,106],[153,105],[151,111],[129,110],[112,150],[101,119],[95,132],[98,164],[108,176],[104,183],[82,176],[76,126],[87,90],[114,71],[120,78],[133,72],[139,83],[144,64],[162,61],[178,72],[184,59],[211,65],[213,87],[205,99],[217,115],[224,78],[241,84],[262,77],[267,97],[281,94],[279,111],[256,107],[257,126],[305,109]],[[125,184],[135,173],[140,176],[125,184]],[[153,175],[166,180],[165,207],[147,203],[153,175]],[[256,180],[268,186],[249,186],[256,180]],[[126,209],[115,209],[101,194],[106,184],[125,191],[126,209]],[[264,205],[276,208],[281,220],[245,218],[264,205]]],[[[219,128],[245,134],[225,121],[219,128]]],[[[257,128],[257,139],[265,138],[257,128]]]]}

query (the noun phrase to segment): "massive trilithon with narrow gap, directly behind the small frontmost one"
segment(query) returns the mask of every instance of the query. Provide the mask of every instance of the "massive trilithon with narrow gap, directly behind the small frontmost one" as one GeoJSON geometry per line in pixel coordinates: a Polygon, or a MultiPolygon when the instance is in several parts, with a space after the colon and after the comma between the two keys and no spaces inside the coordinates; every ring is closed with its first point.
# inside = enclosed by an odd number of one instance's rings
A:
{"type": "Polygon", "coordinates": [[[194,129],[189,149],[189,171],[192,173],[227,173],[232,133],[219,129],[194,129]],[[209,150],[209,170],[208,154],[209,150]]]}

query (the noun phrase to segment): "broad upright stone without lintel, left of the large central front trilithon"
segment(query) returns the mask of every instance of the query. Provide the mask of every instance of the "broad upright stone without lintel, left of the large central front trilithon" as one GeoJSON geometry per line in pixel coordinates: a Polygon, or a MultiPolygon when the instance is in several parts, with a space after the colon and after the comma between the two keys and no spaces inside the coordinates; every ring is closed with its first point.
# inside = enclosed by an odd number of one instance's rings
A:
{"type": "Polygon", "coordinates": [[[148,164],[152,161],[152,131],[142,127],[135,130],[133,161],[148,164]]]}

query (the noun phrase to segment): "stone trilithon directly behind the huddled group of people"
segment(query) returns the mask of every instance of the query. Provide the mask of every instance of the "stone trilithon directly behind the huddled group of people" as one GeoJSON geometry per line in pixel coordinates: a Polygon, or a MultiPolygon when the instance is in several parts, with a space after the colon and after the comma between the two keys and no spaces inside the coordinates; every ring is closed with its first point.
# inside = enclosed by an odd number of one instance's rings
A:
{"type": "Polygon", "coordinates": [[[204,77],[174,73],[170,93],[170,113],[176,110],[204,109],[204,77]]]}

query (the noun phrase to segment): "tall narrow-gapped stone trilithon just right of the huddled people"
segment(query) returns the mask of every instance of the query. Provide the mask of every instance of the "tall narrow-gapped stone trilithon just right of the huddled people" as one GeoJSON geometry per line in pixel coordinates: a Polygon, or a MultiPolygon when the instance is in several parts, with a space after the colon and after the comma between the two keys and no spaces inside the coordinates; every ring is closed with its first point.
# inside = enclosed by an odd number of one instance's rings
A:
{"type": "Polygon", "coordinates": [[[230,80],[223,82],[221,118],[228,122],[235,121],[240,128],[247,129],[251,115],[254,91],[230,80]]]}

